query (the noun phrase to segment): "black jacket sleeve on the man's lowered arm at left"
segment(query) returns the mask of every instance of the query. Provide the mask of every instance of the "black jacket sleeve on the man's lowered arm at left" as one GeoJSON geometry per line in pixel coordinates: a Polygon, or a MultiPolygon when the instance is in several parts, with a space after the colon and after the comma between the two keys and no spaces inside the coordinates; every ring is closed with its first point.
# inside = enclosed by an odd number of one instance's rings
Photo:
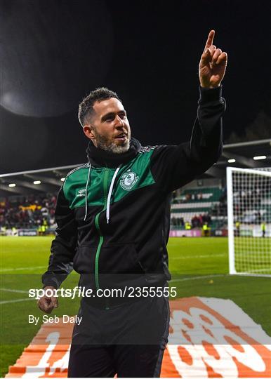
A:
{"type": "Polygon", "coordinates": [[[48,270],[42,276],[45,286],[58,288],[67,275],[72,272],[72,261],[77,248],[77,225],[74,213],[70,209],[63,187],[58,193],[55,206],[55,220],[57,235],[51,245],[48,270]]]}

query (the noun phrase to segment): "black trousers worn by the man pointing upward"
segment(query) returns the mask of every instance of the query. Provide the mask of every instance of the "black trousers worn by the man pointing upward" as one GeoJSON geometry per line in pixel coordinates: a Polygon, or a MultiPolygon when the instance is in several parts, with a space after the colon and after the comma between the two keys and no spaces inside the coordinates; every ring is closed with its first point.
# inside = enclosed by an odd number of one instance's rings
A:
{"type": "Polygon", "coordinates": [[[69,378],[159,378],[168,342],[168,298],[98,309],[81,302],[74,327],[69,378]]]}

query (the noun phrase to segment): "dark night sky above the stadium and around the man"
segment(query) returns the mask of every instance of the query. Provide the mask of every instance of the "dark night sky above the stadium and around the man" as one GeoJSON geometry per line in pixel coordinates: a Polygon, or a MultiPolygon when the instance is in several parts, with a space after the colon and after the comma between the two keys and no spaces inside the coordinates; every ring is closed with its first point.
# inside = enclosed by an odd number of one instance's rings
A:
{"type": "Polygon", "coordinates": [[[224,139],[242,133],[270,114],[269,4],[0,0],[0,172],[84,163],[77,106],[97,86],[117,91],[143,145],[190,138],[210,29],[229,57],[224,139]]]}

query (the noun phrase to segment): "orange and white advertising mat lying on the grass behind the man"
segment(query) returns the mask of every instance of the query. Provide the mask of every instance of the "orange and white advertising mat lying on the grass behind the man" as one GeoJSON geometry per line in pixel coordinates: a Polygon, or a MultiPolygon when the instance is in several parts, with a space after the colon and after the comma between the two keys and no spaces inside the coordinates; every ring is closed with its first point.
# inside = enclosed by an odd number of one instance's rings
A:
{"type": "MultiPolygon", "coordinates": [[[[67,377],[73,326],[43,324],[6,378],[67,377]]],[[[271,338],[232,300],[173,300],[161,377],[270,378],[271,338]]]]}

